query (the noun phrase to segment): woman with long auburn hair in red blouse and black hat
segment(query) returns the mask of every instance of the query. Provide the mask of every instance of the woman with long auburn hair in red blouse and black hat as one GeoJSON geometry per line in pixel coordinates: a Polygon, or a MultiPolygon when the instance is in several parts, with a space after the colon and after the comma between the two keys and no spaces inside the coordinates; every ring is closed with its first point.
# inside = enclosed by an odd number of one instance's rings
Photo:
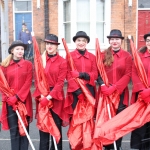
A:
{"type": "MultiPolygon", "coordinates": [[[[121,48],[122,40],[124,37],[118,29],[110,31],[107,36],[110,47],[104,51],[104,65],[110,86],[107,87],[101,77],[98,77],[98,83],[101,86],[101,92],[109,96],[114,91],[120,94],[119,106],[116,114],[123,111],[128,106],[129,91],[128,83],[131,78],[132,70],[132,57],[131,55],[121,48]]],[[[121,150],[122,138],[116,141],[117,150],[121,150]]],[[[105,150],[113,150],[113,144],[105,146],[105,150]]]]}

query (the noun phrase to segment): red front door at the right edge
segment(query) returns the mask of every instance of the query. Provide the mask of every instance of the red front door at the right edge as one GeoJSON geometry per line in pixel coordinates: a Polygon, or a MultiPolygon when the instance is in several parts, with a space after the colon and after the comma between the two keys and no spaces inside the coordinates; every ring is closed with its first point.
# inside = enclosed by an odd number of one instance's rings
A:
{"type": "Polygon", "coordinates": [[[138,49],[145,46],[144,34],[150,33],[150,10],[138,11],[138,49]]]}

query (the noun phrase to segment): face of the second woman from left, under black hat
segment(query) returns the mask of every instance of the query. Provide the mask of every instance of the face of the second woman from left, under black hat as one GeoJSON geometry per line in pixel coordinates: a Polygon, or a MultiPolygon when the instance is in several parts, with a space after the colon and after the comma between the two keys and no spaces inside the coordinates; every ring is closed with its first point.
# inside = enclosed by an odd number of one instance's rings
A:
{"type": "Polygon", "coordinates": [[[46,43],[46,51],[48,54],[53,55],[57,52],[58,45],[53,43],[46,43]]]}

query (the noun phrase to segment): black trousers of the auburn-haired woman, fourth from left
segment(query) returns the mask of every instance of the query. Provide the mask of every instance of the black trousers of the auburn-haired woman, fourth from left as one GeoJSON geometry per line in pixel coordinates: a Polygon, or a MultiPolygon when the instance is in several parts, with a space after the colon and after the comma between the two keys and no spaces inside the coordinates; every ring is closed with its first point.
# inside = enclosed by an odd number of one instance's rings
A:
{"type": "MultiPolygon", "coordinates": [[[[123,100],[124,100],[124,92],[120,95],[120,102],[116,114],[119,114],[121,111],[123,111],[126,108],[126,105],[123,104],[123,100]]],[[[122,142],[122,138],[116,141],[117,150],[119,150],[119,147],[121,147],[121,142],[122,142]]],[[[105,148],[106,150],[114,149],[114,144],[107,145],[105,146],[105,148]]]]}

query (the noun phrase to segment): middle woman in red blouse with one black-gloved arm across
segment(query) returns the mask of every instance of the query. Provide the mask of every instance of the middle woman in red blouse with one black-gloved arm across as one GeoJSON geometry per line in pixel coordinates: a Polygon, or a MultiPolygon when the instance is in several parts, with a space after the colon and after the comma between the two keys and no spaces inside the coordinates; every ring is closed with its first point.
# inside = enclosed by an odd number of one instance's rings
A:
{"type": "Polygon", "coordinates": [[[70,116],[72,116],[78,100],[84,98],[81,88],[74,79],[82,79],[90,93],[95,97],[95,80],[98,76],[95,56],[86,49],[87,44],[90,42],[90,37],[84,31],[78,31],[73,37],[73,41],[75,42],[76,49],[70,52],[70,54],[77,71],[71,71],[68,64],[68,96],[66,97],[65,108],[70,116]]]}

